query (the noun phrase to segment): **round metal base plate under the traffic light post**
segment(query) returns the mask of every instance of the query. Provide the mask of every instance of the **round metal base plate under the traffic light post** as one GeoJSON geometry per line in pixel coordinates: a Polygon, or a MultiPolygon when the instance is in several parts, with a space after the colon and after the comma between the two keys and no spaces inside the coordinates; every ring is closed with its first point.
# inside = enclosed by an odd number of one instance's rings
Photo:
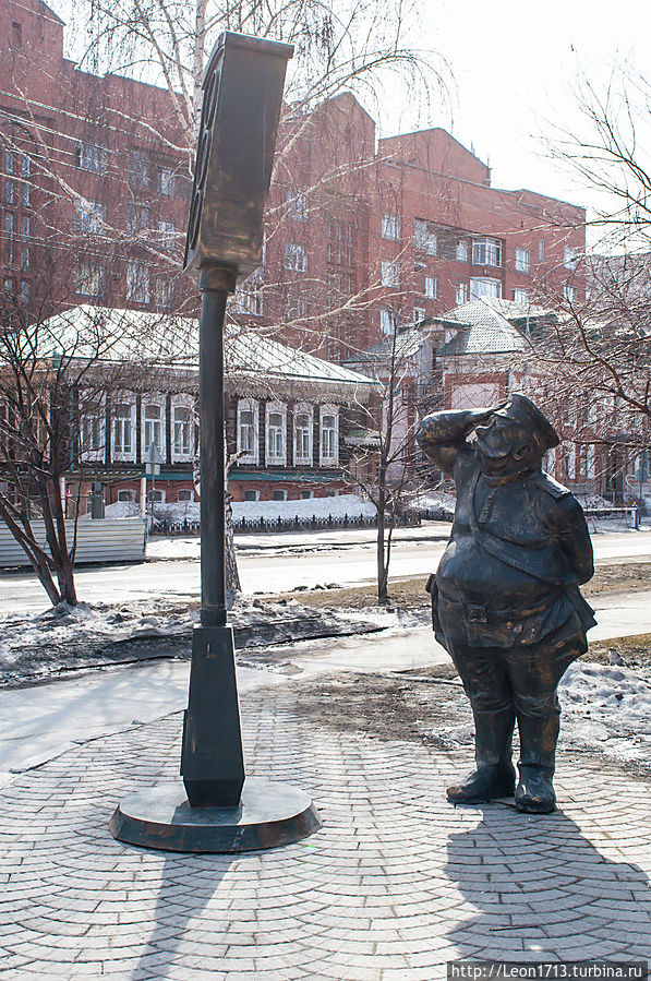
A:
{"type": "Polygon", "coordinates": [[[238,807],[191,807],[182,780],[132,793],[110,820],[113,838],[164,851],[237,852],[289,845],[321,827],[306,793],[248,777],[238,807]]]}

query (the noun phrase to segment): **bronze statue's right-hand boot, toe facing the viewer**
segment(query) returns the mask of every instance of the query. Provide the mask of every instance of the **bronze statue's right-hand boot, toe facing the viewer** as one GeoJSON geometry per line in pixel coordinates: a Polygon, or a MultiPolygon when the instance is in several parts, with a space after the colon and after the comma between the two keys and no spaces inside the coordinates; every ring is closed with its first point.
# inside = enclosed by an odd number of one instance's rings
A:
{"type": "Polygon", "coordinates": [[[516,788],[516,807],[526,814],[550,814],[556,809],[554,769],[559,731],[557,709],[547,718],[522,716],[520,730],[520,780],[516,788]]]}

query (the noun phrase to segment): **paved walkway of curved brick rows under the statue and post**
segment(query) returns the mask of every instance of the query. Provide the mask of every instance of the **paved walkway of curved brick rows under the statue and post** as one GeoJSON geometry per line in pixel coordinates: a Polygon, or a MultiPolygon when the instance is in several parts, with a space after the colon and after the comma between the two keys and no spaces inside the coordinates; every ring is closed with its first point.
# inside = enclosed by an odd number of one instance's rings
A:
{"type": "Polygon", "coordinates": [[[270,852],[121,845],[116,803],[173,778],[180,716],[96,740],[5,787],[8,978],[433,981],[459,957],[651,958],[649,788],[560,761],[563,813],[453,809],[467,754],[300,719],[300,686],[243,699],[249,771],[311,791],[324,829],[270,852]]]}

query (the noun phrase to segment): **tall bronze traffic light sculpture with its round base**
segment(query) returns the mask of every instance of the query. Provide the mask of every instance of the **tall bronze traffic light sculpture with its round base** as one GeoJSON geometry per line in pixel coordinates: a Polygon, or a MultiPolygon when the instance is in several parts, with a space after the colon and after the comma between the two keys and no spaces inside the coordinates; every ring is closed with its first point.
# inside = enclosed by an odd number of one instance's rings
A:
{"type": "Polygon", "coordinates": [[[185,271],[198,274],[201,624],[192,639],[183,782],[132,794],[114,837],[170,851],[245,851],[321,827],[310,799],[245,778],[225,583],[224,316],[239,278],[261,264],[287,61],[293,48],[226,32],[204,77],[185,271]]]}

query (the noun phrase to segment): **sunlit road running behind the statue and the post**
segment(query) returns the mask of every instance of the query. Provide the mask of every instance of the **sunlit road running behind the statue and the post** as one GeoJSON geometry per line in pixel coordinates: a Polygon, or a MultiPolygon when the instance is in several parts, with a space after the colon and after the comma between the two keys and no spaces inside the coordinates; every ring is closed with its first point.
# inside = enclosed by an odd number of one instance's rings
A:
{"type": "MultiPolygon", "coordinates": [[[[449,526],[448,526],[449,527],[449,526]]],[[[417,529],[396,542],[390,564],[391,577],[410,575],[426,577],[436,567],[445,541],[436,529],[417,529]],[[437,536],[437,537],[435,537],[437,536]]],[[[242,551],[239,569],[245,593],[273,593],[297,586],[337,583],[369,583],[375,576],[375,551],[371,536],[341,531],[318,541],[304,536],[302,546],[278,539],[274,548],[242,551]]],[[[593,537],[596,561],[651,561],[651,531],[604,533],[593,537]]],[[[174,553],[180,552],[178,540],[174,553]]],[[[192,547],[196,550],[197,542],[192,547]]],[[[130,565],[104,565],[80,569],[77,594],[87,602],[128,602],[165,596],[183,599],[200,595],[200,571],[196,558],[158,559],[130,565]]],[[[29,572],[0,574],[0,611],[16,613],[47,609],[48,601],[36,577],[29,572]]]]}

